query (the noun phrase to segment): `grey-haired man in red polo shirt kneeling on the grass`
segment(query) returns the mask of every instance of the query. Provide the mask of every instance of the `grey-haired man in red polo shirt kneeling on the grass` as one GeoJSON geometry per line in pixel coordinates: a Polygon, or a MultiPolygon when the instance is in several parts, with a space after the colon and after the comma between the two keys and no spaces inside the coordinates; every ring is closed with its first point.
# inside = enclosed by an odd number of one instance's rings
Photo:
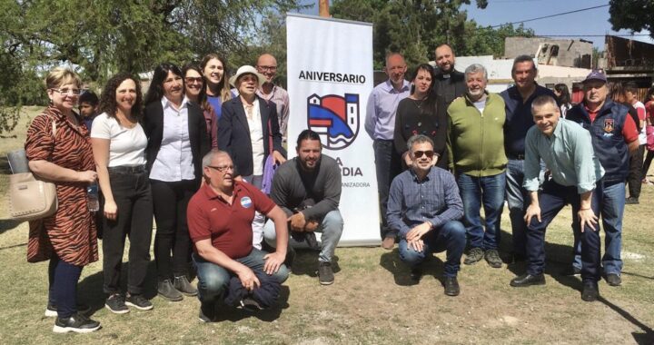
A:
{"type": "Polygon", "coordinates": [[[233,180],[233,162],[228,153],[212,150],[203,158],[206,183],[188,205],[189,234],[194,243],[193,264],[197,269],[200,320],[215,320],[215,307],[232,277],[243,288],[261,287],[258,275],[266,274],[280,284],[289,271],[283,265],[288,246],[286,214],[263,192],[247,182],[233,180]],[[277,233],[276,251],[253,248],[254,212],[272,219],[277,233]]]}

